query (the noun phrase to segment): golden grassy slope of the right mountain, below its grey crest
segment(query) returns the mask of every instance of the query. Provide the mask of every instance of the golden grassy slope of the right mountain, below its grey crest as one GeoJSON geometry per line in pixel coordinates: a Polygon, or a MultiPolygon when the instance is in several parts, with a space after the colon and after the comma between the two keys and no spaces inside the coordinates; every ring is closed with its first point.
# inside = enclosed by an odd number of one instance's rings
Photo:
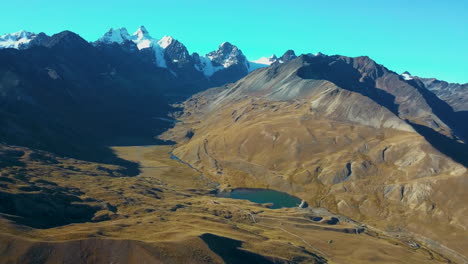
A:
{"type": "Polygon", "coordinates": [[[185,102],[162,138],[221,188],[288,192],[468,261],[467,169],[418,133],[324,118],[310,98],[210,100],[185,102]]]}

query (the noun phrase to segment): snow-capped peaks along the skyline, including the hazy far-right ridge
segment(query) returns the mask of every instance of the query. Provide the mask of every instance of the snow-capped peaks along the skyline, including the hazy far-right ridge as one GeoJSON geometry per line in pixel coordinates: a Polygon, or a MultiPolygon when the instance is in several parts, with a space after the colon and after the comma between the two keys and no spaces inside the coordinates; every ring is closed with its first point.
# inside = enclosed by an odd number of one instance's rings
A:
{"type": "MultiPolygon", "coordinates": [[[[36,34],[22,30],[0,36],[0,49],[24,50],[34,46],[43,46],[50,38],[45,33],[36,34]]],[[[189,86],[195,85],[201,90],[206,87],[235,82],[258,68],[285,63],[297,58],[293,50],[288,50],[279,58],[272,55],[249,61],[238,47],[229,42],[221,43],[218,50],[204,56],[196,52],[190,54],[184,44],[171,36],[164,36],[161,39],[151,37],[144,26],[139,27],[132,35],[128,33],[126,28],[111,28],[92,44],[96,47],[118,45],[126,47],[129,51],[144,50],[147,53],[147,59],[152,61],[156,67],[168,69],[180,83],[189,86]]],[[[315,56],[317,55],[323,54],[315,54],[315,56]]],[[[422,78],[412,76],[408,72],[401,74],[401,76],[406,80],[421,81],[425,88],[449,103],[455,111],[468,110],[466,100],[468,95],[464,93],[468,84],[422,78]]]]}

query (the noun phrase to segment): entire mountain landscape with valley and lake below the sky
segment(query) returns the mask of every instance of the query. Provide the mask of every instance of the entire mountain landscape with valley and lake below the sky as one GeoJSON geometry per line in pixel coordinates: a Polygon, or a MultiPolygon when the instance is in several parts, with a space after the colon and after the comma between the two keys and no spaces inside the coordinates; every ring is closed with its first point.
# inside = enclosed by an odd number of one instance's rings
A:
{"type": "Polygon", "coordinates": [[[0,262],[468,263],[467,87],[144,26],[2,35],[0,262]]]}

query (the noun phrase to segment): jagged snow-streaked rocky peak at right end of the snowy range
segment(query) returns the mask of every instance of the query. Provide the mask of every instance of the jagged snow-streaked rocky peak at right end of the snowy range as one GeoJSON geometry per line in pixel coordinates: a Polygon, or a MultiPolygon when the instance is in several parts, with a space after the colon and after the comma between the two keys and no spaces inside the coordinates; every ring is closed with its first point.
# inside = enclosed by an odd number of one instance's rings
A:
{"type": "Polygon", "coordinates": [[[217,51],[212,51],[206,56],[213,62],[213,65],[223,66],[224,68],[228,68],[234,64],[247,65],[247,59],[242,51],[229,42],[221,43],[217,51]]]}

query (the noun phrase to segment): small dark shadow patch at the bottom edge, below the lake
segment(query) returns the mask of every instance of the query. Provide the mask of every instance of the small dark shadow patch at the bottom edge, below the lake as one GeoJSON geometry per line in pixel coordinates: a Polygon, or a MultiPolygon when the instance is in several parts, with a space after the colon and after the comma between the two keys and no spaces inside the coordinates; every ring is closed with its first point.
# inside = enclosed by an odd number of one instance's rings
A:
{"type": "Polygon", "coordinates": [[[242,242],[239,240],[221,237],[213,234],[203,234],[200,238],[208,247],[220,256],[226,264],[238,263],[257,263],[272,264],[275,263],[261,255],[240,249],[242,242]]]}

